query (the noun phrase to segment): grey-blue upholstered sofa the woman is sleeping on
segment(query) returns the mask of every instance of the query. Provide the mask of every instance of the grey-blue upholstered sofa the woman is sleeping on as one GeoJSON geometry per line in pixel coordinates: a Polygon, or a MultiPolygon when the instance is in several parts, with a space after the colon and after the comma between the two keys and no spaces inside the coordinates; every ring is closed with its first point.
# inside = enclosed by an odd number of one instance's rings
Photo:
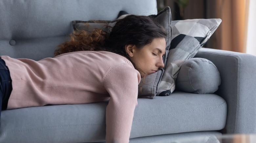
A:
{"type": "MultiPolygon", "coordinates": [[[[73,20],[114,20],[120,10],[157,14],[156,0],[0,0],[0,55],[40,60],[72,32],[73,20]]],[[[138,99],[132,143],[256,133],[256,57],[201,48],[195,57],[218,68],[213,94],[174,91],[138,99]]],[[[1,112],[1,143],[104,142],[107,102],[51,105],[1,112]]]]}

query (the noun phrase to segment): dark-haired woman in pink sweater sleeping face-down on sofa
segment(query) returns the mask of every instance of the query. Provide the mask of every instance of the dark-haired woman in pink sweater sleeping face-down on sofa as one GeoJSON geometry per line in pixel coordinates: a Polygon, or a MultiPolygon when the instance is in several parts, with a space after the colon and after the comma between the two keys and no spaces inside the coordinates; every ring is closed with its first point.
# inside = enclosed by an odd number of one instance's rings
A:
{"type": "Polygon", "coordinates": [[[106,142],[129,142],[140,78],[164,66],[164,29],[147,16],[119,20],[108,34],[81,31],[40,61],[1,56],[2,110],[109,100],[106,142]]]}

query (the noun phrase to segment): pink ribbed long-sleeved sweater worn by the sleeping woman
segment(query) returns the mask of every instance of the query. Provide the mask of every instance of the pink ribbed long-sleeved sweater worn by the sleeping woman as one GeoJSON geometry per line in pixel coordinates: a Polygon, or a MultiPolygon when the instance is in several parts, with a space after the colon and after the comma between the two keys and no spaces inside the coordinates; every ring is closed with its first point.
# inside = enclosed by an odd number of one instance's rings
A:
{"type": "Polygon", "coordinates": [[[129,142],[140,74],[125,57],[81,51],[39,61],[1,58],[12,79],[8,109],[109,100],[106,141],[129,142]]]}

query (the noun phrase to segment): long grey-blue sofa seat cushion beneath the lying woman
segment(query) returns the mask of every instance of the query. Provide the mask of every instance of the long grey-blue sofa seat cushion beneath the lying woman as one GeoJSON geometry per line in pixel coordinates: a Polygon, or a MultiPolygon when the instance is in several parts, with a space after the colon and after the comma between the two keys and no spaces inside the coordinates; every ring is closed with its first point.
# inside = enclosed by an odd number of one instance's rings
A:
{"type": "MultiPolygon", "coordinates": [[[[108,102],[50,105],[1,112],[0,142],[100,142],[108,102]],[[26,136],[26,137],[24,137],[26,136]]],[[[174,91],[138,99],[131,138],[223,129],[226,102],[216,94],[174,91]]]]}

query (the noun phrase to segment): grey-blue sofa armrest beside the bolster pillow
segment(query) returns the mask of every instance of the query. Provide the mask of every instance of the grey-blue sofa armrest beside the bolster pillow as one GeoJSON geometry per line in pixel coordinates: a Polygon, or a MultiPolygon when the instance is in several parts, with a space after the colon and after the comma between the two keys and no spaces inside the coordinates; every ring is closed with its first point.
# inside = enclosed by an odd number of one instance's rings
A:
{"type": "Polygon", "coordinates": [[[212,61],[221,75],[216,94],[227,103],[227,134],[256,133],[256,56],[201,48],[195,57],[212,61]]]}

